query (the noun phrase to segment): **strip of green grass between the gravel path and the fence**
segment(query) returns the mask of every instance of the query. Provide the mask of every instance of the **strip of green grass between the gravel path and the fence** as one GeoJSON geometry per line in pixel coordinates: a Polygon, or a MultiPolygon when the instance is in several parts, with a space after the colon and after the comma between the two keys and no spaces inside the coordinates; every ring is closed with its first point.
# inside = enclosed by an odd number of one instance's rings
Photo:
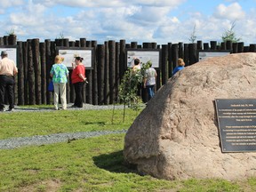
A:
{"type": "Polygon", "coordinates": [[[139,112],[123,110],[60,110],[1,113],[0,139],[61,132],[93,132],[128,129],[139,112]]]}

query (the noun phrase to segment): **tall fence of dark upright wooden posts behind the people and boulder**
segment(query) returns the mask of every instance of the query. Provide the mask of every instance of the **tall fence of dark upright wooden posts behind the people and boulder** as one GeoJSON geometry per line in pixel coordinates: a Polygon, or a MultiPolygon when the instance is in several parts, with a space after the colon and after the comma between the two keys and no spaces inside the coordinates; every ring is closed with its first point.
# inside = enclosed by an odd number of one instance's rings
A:
{"type": "MultiPolygon", "coordinates": [[[[157,68],[156,90],[166,84],[172,76],[172,69],[176,67],[177,60],[183,58],[186,66],[198,61],[198,50],[220,50],[236,52],[256,52],[256,44],[244,46],[244,43],[232,43],[230,41],[218,44],[215,41],[203,43],[197,41],[195,44],[156,44],[132,42],[127,44],[125,40],[116,42],[106,41],[97,44],[97,41],[87,41],[80,38],[76,41],[68,39],[50,39],[40,42],[38,38],[28,39],[26,42],[17,41],[17,36],[0,37],[0,46],[17,45],[18,68],[15,85],[15,103],[17,105],[41,105],[52,104],[52,92],[47,91],[50,82],[50,70],[54,63],[57,47],[90,47],[93,48],[92,69],[86,70],[89,84],[84,84],[84,103],[93,105],[114,104],[118,100],[118,86],[121,82],[127,64],[125,63],[125,50],[150,49],[161,50],[160,66],[157,68]]],[[[71,75],[72,70],[69,70],[71,75]]],[[[70,76],[67,84],[67,101],[75,100],[74,87],[70,76]]],[[[147,102],[147,92],[142,90],[142,100],[147,102]]]]}

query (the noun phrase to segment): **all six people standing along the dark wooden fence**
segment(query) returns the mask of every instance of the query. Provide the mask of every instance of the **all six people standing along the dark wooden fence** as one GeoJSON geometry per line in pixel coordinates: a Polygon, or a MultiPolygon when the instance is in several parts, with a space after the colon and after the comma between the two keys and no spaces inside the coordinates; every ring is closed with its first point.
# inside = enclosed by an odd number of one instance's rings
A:
{"type": "MultiPolygon", "coordinates": [[[[18,73],[18,68],[13,60],[8,58],[6,51],[1,52],[0,60],[0,112],[4,111],[5,103],[5,91],[8,96],[9,109],[12,111],[14,108],[14,76],[18,73]]],[[[71,82],[74,85],[76,98],[73,108],[83,108],[83,86],[86,81],[85,77],[85,67],[83,64],[84,58],[75,57],[75,62],[72,63],[72,74],[71,82]]],[[[52,65],[50,76],[52,77],[52,82],[54,86],[54,108],[59,110],[59,94],[62,109],[67,109],[67,98],[66,98],[66,84],[68,83],[68,68],[63,64],[64,58],[57,55],[52,65]]],[[[148,67],[143,76],[143,87],[148,91],[148,100],[152,99],[155,92],[156,84],[156,69],[152,67],[152,62],[148,63],[148,67]]],[[[174,76],[179,70],[183,69],[185,62],[182,59],[178,60],[178,66],[173,69],[172,76],[174,76]]],[[[140,71],[140,60],[134,60],[134,66],[132,72],[136,74],[140,71]]],[[[139,84],[141,87],[141,84],[139,84]]]]}

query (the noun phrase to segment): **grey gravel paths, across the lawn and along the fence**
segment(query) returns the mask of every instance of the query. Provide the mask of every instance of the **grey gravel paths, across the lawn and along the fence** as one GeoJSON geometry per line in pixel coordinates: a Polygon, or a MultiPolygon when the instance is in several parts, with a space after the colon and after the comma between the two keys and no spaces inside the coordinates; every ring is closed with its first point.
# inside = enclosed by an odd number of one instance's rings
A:
{"type": "MultiPolygon", "coordinates": [[[[84,104],[84,108],[71,108],[72,104],[68,104],[68,110],[102,110],[102,109],[113,109],[113,108],[124,108],[123,105],[108,105],[108,106],[93,106],[90,104],[84,104]]],[[[43,111],[52,111],[54,108],[23,108],[19,106],[15,106],[12,112],[4,112],[4,113],[15,113],[15,112],[43,112],[43,111]]],[[[70,142],[72,140],[79,140],[84,138],[97,137],[100,135],[107,134],[117,134],[117,133],[125,133],[127,130],[122,131],[99,131],[99,132],[67,132],[67,133],[57,133],[51,135],[36,135],[32,137],[24,137],[24,138],[11,138],[7,140],[0,140],[0,149],[12,149],[12,148],[20,148],[23,146],[40,146],[46,144],[52,144],[57,142],[70,142]]]]}

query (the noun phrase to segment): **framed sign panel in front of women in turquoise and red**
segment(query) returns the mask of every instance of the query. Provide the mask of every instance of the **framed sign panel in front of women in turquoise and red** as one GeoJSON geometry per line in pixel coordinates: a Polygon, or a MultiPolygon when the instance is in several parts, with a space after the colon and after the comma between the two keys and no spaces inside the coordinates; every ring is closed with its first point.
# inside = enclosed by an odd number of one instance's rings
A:
{"type": "Polygon", "coordinates": [[[67,68],[72,68],[72,62],[75,62],[75,57],[84,58],[83,64],[86,69],[92,69],[92,55],[93,48],[85,48],[85,47],[57,47],[57,54],[60,54],[64,57],[63,64],[67,66],[67,68]]]}

